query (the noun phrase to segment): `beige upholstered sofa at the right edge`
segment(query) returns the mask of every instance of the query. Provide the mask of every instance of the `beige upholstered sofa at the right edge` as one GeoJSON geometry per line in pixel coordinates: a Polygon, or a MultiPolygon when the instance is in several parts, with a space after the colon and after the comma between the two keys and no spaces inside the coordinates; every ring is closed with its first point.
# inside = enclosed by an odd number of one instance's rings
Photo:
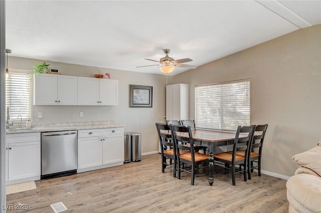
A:
{"type": "Polygon", "coordinates": [[[289,212],[321,212],[321,141],[292,156],[299,167],[286,182],[289,212]]]}

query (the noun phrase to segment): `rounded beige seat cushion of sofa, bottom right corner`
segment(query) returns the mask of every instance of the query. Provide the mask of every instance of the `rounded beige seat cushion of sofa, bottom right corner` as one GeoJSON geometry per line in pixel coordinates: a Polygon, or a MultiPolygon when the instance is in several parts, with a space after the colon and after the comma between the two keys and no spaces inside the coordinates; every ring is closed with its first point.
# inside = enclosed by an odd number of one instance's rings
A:
{"type": "Polygon", "coordinates": [[[299,212],[321,212],[321,178],[311,174],[297,174],[286,181],[286,196],[299,212]]]}

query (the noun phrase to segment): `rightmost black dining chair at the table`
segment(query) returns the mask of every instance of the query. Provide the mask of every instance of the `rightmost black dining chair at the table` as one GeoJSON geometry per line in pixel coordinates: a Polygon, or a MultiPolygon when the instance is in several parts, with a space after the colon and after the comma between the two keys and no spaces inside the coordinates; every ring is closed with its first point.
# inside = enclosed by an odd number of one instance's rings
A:
{"type": "MultiPolygon", "coordinates": [[[[263,148],[263,141],[266,133],[268,124],[263,125],[257,125],[255,127],[252,145],[251,145],[251,151],[248,152],[248,179],[251,179],[251,172],[253,172],[253,169],[257,169],[258,175],[261,176],[261,157],[262,157],[262,148],[263,148]],[[256,165],[254,165],[254,163],[256,165]]],[[[238,155],[245,155],[244,150],[237,150],[236,154],[238,155]]]]}

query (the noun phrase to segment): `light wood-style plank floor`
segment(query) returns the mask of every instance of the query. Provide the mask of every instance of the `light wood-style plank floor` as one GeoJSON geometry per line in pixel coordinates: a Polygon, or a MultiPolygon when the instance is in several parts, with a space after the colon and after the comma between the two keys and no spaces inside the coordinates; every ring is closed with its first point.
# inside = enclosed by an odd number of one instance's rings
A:
{"type": "Polygon", "coordinates": [[[208,175],[190,185],[190,174],[172,176],[161,171],[161,155],[142,156],[140,162],[36,181],[37,189],[7,195],[7,204],[28,204],[28,210],[54,212],[62,201],[65,212],[287,212],[286,180],[253,172],[252,180],[208,175]]]}

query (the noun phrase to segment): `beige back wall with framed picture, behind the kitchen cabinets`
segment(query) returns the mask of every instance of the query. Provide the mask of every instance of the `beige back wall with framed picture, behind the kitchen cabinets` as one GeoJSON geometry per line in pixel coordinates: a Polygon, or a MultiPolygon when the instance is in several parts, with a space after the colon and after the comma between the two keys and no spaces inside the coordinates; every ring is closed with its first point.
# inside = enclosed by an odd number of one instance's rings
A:
{"type": "MultiPolygon", "coordinates": [[[[31,70],[40,62],[29,58],[9,57],[8,67],[31,70]]],[[[141,132],[142,153],[158,150],[158,139],[155,122],[165,116],[166,75],[130,72],[76,64],[47,61],[50,67],[58,68],[62,74],[92,77],[93,74],[110,72],[112,79],[119,80],[119,105],[117,106],[33,106],[33,122],[63,122],[114,120],[125,125],[125,131],[141,132]],[[129,107],[129,84],[153,86],[151,108],[129,107]],[[37,112],[43,118],[37,117],[37,112]],[[84,116],[79,117],[82,111],[84,116]]],[[[161,72],[159,70],[159,72],[161,72]]],[[[171,77],[169,77],[169,82],[171,77]]],[[[50,89],[50,88],[48,88],[50,89]]],[[[164,120],[163,120],[164,121],[164,120]]]]}

